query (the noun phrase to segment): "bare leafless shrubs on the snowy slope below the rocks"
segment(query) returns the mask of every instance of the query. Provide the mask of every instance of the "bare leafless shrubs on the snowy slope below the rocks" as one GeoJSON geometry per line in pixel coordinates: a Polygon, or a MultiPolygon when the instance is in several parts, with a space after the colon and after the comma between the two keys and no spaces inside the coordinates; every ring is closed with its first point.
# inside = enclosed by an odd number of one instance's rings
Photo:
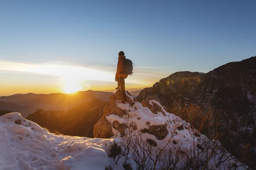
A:
{"type": "Polygon", "coordinates": [[[120,138],[122,152],[113,159],[116,164],[120,162],[127,169],[131,169],[129,162],[135,162],[136,169],[236,169],[236,159],[221,146],[217,136],[215,139],[208,139],[201,134],[195,136],[198,131],[190,129],[193,140],[190,148],[184,147],[183,143],[173,142],[179,126],[169,123],[170,138],[159,148],[150,145],[140,131],[134,131],[130,122],[125,136],[120,138]]]}

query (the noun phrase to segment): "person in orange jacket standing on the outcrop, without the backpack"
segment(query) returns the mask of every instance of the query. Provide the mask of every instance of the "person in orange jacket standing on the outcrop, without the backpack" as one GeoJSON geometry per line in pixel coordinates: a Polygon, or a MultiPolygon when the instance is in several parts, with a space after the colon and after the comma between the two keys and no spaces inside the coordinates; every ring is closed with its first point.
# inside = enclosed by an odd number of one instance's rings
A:
{"type": "Polygon", "coordinates": [[[116,78],[117,81],[117,87],[116,89],[122,90],[122,103],[126,103],[126,94],[125,94],[125,85],[124,80],[127,78],[128,74],[124,73],[124,52],[118,53],[118,63],[117,63],[117,69],[116,69],[116,78]]]}

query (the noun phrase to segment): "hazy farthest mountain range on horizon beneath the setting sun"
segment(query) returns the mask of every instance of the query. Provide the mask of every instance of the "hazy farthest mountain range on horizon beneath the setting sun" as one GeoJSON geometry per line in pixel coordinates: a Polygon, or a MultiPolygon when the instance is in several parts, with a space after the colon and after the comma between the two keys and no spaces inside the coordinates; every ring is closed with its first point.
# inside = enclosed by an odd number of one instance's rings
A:
{"type": "Polygon", "coordinates": [[[74,94],[15,94],[0,97],[0,110],[20,112],[24,117],[38,109],[43,110],[69,110],[93,99],[109,101],[112,92],[79,91],[74,94]]]}

